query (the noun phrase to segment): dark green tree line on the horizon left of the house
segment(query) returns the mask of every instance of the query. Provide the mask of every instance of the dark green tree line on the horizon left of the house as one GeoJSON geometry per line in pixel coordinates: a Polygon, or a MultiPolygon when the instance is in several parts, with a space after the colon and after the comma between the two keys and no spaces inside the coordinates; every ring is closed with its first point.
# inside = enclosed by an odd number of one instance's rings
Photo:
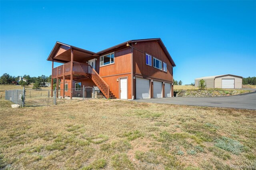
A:
{"type": "Polygon", "coordinates": [[[42,83],[42,85],[45,85],[45,83],[51,83],[52,82],[52,75],[45,76],[45,75],[41,75],[38,77],[30,77],[30,75],[24,75],[24,76],[11,76],[8,73],[4,73],[1,77],[0,77],[0,84],[1,85],[12,85],[12,84],[16,84],[16,81],[19,80],[19,78],[22,77],[24,79],[27,80],[27,82],[25,81],[20,81],[19,84],[22,86],[25,85],[29,85],[30,83],[34,83],[36,85],[36,87],[40,86],[40,83],[42,83]]]}

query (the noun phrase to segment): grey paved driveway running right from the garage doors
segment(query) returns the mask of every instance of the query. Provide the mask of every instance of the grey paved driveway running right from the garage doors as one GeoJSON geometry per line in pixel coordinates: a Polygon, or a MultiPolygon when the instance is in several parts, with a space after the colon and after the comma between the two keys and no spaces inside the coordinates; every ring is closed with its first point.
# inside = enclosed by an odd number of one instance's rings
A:
{"type": "Polygon", "coordinates": [[[256,110],[256,91],[225,97],[170,97],[160,99],[136,99],[134,101],[256,110]]]}

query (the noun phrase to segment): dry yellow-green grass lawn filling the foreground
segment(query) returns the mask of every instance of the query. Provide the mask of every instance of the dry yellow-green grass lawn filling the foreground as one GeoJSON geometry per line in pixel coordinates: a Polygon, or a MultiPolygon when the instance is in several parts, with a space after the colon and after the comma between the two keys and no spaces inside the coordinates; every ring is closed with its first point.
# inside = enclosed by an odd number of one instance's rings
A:
{"type": "Polygon", "coordinates": [[[256,111],[93,99],[0,101],[0,169],[231,169],[256,164],[256,111]]]}

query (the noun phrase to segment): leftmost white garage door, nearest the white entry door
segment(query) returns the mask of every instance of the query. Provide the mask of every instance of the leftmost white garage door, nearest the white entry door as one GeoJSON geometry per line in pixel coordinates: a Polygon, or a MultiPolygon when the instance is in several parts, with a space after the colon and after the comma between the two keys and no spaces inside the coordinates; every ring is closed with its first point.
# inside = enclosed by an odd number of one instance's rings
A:
{"type": "Polygon", "coordinates": [[[136,78],[136,99],[149,99],[149,80],[136,78]]]}

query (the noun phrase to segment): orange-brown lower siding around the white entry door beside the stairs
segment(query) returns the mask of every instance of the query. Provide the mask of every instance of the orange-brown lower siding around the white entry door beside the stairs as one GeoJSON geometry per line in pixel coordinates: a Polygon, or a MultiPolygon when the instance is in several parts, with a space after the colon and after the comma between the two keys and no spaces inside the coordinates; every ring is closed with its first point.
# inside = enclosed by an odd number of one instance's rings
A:
{"type": "Polygon", "coordinates": [[[102,77],[104,81],[109,85],[110,91],[115,95],[117,99],[120,98],[119,96],[119,81],[120,77],[127,77],[127,84],[128,84],[128,99],[132,99],[132,83],[131,83],[131,74],[123,74],[123,75],[115,75],[110,77],[102,77]],[[119,79],[119,81],[116,81],[119,79]]]}

